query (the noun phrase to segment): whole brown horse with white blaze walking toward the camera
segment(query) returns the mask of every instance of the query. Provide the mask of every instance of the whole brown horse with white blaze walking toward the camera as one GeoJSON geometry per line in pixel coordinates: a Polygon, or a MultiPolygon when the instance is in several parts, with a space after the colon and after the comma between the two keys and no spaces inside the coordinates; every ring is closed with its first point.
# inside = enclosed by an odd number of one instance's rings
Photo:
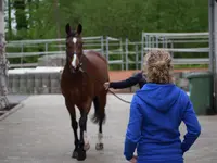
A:
{"type": "Polygon", "coordinates": [[[65,25],[66,33],[66,62],[61,76],[61,91],[65,105],[71,116],[71,126],[74,131],[74,145],[72,158],[78,161],[86,160],[86,151],[90,148],[87,137],[87,120],[94,104],[92,123],[99,125],[98,142],[95,150],[103,150],[102,125],[105,123],[105,105],[107,90],[103,84],[110,82],[108,64],[106,59],[95,51],[84,52],[82,26],[77,25],[72,30],[69,23],[65,25]],[[76,110],[80,112],[79,122],[76,121],[76,110]],[[80,127],[80,139],[78,139],[78,124],[80,127]]]}

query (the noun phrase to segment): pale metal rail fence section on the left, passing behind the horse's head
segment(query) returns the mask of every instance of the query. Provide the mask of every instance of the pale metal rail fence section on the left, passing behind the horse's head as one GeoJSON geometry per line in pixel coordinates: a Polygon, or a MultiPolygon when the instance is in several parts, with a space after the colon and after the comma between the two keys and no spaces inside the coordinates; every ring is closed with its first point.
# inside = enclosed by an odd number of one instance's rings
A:
{"type": "MultiPolygon", "coordinates": [[[[84,37],[85,49],[104,53],[103,37],[84,37]]],[[[7,51],[8,59],[20,58],[18,64],[10,64],[10,67],[37,66],[38,63],[24,63],[24,58],[60,55],[65,57],[65,39],[42,39],[9,41],[7,48],[16,52],[7,51]],[[30,52],[28,50],[30,49],[30,52]]]]}

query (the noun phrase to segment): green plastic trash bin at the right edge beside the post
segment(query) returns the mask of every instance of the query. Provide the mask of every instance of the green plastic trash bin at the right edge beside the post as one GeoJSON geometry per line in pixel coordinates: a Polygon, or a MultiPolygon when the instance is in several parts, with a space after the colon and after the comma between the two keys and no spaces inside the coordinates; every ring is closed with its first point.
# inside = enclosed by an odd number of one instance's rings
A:
{"type": "Polygon", "coordinates": [[[191,73],[189,79],[190,100],[197,115],[214,112],[213,108],[213,74],[210,72],[191,73]]]}

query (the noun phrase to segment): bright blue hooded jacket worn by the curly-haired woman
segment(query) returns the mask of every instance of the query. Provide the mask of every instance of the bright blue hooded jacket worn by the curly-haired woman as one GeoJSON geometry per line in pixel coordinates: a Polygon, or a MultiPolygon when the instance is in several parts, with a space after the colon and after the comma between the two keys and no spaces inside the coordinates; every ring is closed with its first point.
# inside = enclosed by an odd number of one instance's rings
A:
{"type": "Polygon", "coordinates": [[[138,163],[182,163],[201,134],[188,95],[174,84],[145,84],[133,96],[129,116],[124,155],[130,160],[137,148],[138,163]],[[182,121],[188,133],[181,142],[182,121]]]}

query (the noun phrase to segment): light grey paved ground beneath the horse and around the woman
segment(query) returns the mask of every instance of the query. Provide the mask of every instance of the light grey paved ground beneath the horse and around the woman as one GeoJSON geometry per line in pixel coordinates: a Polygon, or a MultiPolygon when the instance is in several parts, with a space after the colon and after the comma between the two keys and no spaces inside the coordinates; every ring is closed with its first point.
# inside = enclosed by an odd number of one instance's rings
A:
{"type": "MultiPolygon", "coordinates": [[[[131,100],[131,95],[120,95],[131,100]]],[[[62,96],[33,96],[0,122],[0,163],[77,163],[71,159],[74,135],[62,96]]],[[[98,126],[88,122],[90,150],[85,163],[127,163],[123,142],[129,105],[108,96],[104,151],[95,151],[98,126]]],[[[92,111],[91,111],[92,114],[92,111]]],[[[217,163],[217,116],[200,116],[202,136],[184,155],[186,163],[217,163]]],[[[186,127],[181,127],[182,136],[186,127]]]]}

